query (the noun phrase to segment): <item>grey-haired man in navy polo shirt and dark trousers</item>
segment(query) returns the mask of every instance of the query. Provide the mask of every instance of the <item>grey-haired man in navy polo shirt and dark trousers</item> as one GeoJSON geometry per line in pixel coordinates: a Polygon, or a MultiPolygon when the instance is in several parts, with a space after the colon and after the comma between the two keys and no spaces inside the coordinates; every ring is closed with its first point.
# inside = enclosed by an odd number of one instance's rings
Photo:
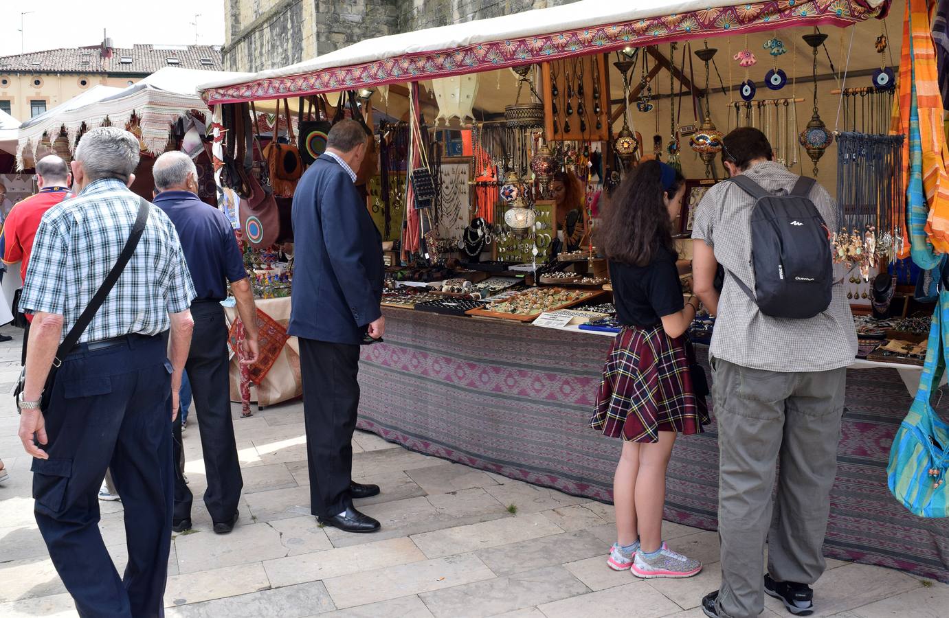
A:
{"type": "MultiPolygon", "coordinates": [[[[204,452],[208,480],[204,503],[214,521],[214,532],[225,535],[237,521],[237,502],[244,482],[234,441],[228,328],[220,301],[227,298],[230,281],[246,334],[241,362],[255,362],[257,320],[251,283],[227,217],[197,197],[197,170],[191,157],[179,152],[162,154],[155,161],[152,174],[158,191],[155,205],[175,224],[195,282],[197,296],[191,305],[195,333],[185,371],[191,381],[204,452]]],[[[180,414],[175,422],[175,445],[177,450],[181,448],[180,414]]],[[[180,452],[176,457],[180,457],[180,452]]],[[[178,466],[176,471],[172,529],[184,532],[191,528],[192,493],[178,466]]]]}

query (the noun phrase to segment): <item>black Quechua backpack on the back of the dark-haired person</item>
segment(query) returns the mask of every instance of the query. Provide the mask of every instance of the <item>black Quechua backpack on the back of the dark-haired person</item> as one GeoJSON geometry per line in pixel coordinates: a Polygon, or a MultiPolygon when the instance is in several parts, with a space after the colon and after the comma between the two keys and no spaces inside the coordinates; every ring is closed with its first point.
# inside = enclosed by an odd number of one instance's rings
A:
{"type": "Polygon", "coordinates": [[[772,193],[744,174],[729,180],[754,198],[754,292],[730,273],[738,287],[772,318],[806,319],[827,311],[833,256],[828,227],[809,197],[816,181],[802,176],[790,193],[772,193]]]}

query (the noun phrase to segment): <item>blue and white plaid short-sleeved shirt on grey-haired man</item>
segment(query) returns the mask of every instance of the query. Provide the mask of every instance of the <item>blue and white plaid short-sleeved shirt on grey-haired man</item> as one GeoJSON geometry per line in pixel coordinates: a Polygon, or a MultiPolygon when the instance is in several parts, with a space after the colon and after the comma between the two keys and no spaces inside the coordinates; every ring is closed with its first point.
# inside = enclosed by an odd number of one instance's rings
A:
{"type": "MultiPolygon", "coordinates": [[[[62,315],[65,336],[119,259],[139,203],[123,183],[107,178],[47,210],[33,242],[21,311],[62,315]]],[[[150,208],[132,259],[81,342],[158,335],[168,330],[168,314],[184,311],[195,298],[175,226],[157,206],[150,208]]]]}

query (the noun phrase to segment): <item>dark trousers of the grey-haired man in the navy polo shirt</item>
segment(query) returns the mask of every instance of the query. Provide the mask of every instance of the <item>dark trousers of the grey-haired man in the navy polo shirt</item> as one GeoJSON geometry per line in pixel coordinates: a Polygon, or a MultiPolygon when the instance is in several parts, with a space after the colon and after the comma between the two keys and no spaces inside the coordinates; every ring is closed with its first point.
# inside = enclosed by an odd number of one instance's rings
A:
{"type": "MultiPolygon", "coordinates": [[[[204,503],[214,521],[230,521],[237,512],[244,480],[237,458],[231,417],[231,375],[228,326],[219,302],[196,301],[191,306],[195,331],[185,371],[191,382],[197,427],[208,488],[204,503]]],[[[176,462],[181,453],[181,415],[175,427],[176,462]]],[[[191,518],[193,496],[184,478],[175,478],[175,518],[191,518]]]]}

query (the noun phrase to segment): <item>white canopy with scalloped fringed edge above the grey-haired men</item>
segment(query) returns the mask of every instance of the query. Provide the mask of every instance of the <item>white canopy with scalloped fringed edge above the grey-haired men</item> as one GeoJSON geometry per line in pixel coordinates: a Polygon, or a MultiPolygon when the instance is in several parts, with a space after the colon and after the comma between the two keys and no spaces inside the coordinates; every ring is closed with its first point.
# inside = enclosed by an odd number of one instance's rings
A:
{"type": "Polygon", "coordinates": [[[97,85],[30,119],[19,129],[17,162],[22,169],[24,154],[35,155],[44,134],[55,139],[65,129],[70,146],[75,144],[79,130],[105,124],[116,126],[135,114],[140,119],[141,141],[147,152],[161,154],[168,143],[169,126],[191,110],[208,112],[207,105],[196,94],[197,84],[213,79],[247,79],[250,73],[201,71],[168,66],[127,88],[97,85]],[[26,151],[26,152],[25,152],[26,151]]]}

